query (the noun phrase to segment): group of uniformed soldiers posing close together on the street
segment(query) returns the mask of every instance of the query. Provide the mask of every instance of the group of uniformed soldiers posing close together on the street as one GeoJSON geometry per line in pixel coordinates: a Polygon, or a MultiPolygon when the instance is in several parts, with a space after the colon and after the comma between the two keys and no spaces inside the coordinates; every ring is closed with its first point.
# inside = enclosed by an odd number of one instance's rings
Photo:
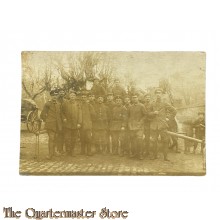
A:
{"type": "Polygon", "coordinates": [[[176,109],[164,101],[161,88],[154,93],[155,100],[147,93],[140,102],[138,94],[127,94],[119,80],[108,92],[98,80],[90,91],[80,94],[74,89],[67,93],[62,88],[52,89],[51,100],[41,112],[49,136],[48,159],[64,154],[76,156],[78,142],[82,155],[157,159],[160,143],[163,158],[168,161],[167,130],[175,120],[176,109]]]}

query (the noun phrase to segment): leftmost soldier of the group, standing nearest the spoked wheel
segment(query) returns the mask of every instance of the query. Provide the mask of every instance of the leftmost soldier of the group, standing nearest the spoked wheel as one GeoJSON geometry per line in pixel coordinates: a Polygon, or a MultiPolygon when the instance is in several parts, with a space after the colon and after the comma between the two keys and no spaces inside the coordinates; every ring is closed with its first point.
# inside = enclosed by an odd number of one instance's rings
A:
{"type": "Polygon", "coordinates": [[[49,141],[49,155],[48,159],[55,156],[55,146],[57,134],[62,131],[62,116],[61,116],[61,105],[57,101],[58,91],[50,91],[51,100],[46,102],[41,112],[41,119],[45,122],[45,128],[47,130],[49,141]]]}

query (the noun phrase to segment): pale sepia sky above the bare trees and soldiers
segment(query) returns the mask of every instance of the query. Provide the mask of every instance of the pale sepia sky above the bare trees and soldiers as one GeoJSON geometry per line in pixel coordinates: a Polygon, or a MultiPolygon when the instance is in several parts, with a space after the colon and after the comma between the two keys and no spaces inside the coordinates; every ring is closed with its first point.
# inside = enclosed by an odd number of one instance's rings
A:
{"type": "MultiPolygon", "coordinates": [[[[65,57],[63,55],[67,53],[72,52],[34,52],[32,62],[34,66],[44,68],[50,56],[56,55],[63,59],[65,57]]],[[[160,78],[171,74],[187,74],[190,78],[194,74],[204,74],[205,70],[204,52],[105,52],[104,54],[114,66],[116,75],[122,79],[130,77],[136,80],[137,85],[143,89],[148,86],[158,86],[160,78]]]]}

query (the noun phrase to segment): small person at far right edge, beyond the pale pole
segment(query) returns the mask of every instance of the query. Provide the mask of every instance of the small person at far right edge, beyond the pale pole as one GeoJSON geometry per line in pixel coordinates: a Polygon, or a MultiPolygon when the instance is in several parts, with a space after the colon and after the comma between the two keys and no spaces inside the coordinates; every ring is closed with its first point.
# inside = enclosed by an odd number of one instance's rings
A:
{"type": "MultiPolygon", "coordinates": [[[[195,138],[205,140],[205,113],[198,112],[198,118],[193,123],[193,133],[195,138]]],[[[194,143],[193,153],[195,154],[198,143],[194,143]]],[[[204,144],[201,144],[201,154],[203,154],[204,144]]]]}

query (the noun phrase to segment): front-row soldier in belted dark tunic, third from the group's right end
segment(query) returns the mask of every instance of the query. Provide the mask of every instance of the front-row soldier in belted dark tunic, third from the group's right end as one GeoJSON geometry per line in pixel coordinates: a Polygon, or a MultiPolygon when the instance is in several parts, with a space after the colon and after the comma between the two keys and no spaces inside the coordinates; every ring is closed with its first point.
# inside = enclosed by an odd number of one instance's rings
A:
{"type": "Polygon", "coordinates": [[[125,153],[125,128],[127,122],[127,109],[123,106],[122,98],[116,96],[116,105],[112,109],[110,120],[110,131],[112,134],[112,153],[113,155],[125,153]],[[120,151],[119,151],[120,143],[120,151]]]}

